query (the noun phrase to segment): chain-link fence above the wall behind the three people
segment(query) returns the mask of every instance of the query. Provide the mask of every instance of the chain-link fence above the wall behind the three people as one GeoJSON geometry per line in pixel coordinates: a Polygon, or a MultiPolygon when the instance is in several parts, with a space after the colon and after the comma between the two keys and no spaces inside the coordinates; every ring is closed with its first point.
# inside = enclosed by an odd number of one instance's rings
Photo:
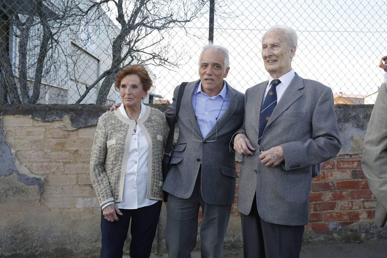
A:
{"type": "MultiPolygon", "coordinates": [[[[241,92],[267,80],[261,38],[276,24],[295,29],[292,67],[333,89],[336,103],[372,104],[384,80],[385,1],[217,0],[214,43],[230,51],[226,80],[241,92]]],[[[201,0],[2,0],[0,103],[115,103],[115,73],[148,68],[147,102],[171,101],[199,79],[210,3],[201,0]]]]}

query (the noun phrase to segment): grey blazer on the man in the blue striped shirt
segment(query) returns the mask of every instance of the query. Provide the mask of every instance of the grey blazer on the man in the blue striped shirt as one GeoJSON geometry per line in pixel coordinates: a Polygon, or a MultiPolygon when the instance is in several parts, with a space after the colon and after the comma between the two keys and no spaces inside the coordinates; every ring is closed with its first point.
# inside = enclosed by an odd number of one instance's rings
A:
{"type": "MultiPolygon", "coordinates": [[[[202,165],[201,191],[203,200],[213,205],[230,205],[235,201],[235,154],[229,151],[229,140],[243,122],[243,94],[226,82],[228,108],[217,122],[215,142],[195,142],[194,139],[215,140],[216,126],[203,138],[195,119],[191,97],[199,80],[189,82],[178,114],[179,137],[171,159],[168,176],[163,190],[179,198],[187,199],[192,195],[195,181],[202,165]],[[195,125],[195,131],[194,131],[195,125]],[[194,131],[194,132],[193,132],[194,131]]],[[[178,90],[173,94],[173,103],[165,111],[167,120],[175,116],[178,90]]]]}

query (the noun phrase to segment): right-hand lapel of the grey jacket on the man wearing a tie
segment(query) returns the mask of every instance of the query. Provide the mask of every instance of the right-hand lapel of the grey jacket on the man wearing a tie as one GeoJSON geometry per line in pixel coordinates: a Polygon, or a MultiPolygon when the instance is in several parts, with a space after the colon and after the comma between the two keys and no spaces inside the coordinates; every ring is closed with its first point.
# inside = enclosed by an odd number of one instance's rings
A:
{"type": "Polygon", "coordinates": [[[269,126],[271,123],[273,123],[274,120],[276,120],[293,102],[295,102],[299,97],[302,96],[302,92],[300,89],[304,87],[302,78],[298,76],[296,73],[293,80],[290,82],[288,88],[284,92],[283,96],[281,97],[281,101],[277,104],[277,106],[274,108],[273,113],[271,114],[271,117],[269,121],[267,122],[267,126],[269,126]]]}

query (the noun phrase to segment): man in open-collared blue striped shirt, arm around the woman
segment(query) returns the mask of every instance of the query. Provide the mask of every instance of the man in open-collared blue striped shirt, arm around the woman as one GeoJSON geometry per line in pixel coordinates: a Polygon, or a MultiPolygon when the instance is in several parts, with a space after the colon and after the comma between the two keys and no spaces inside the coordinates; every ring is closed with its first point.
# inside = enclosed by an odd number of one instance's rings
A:
{"type": "MultiPolygon", "coordinates": [[[[241,127],[244,113],[243,94],[223,80],[229,68],[228,50],[206,45],[199,57],[200,80],[189,82],[184,90],[177,120],[179,137],[163,186],[170,193],[165,231],[168,257],[191,257],[196,246],[199,207],[203,212],[202,257],[222,257],[238,178],[235,155],[228,145],[241,127]]],[[[165,111],[168,121],[175,117],[179,88],[165,111]]]]}

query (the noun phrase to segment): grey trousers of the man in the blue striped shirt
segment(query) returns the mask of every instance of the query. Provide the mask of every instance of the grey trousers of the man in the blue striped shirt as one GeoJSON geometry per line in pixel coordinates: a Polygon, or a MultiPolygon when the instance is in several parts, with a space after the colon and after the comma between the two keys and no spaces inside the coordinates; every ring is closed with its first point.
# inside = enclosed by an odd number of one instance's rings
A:
{"type": "Polygon", "coordinates": [[[196,246],[199,206],[203,219],[200,226],[202,258],[221,258],[224,236],[230,219],[231,205],[205,203],[200,192],[200,173],[190,198],[168,196],[165,243],[169,258],[190,258],[196,246]]]}

